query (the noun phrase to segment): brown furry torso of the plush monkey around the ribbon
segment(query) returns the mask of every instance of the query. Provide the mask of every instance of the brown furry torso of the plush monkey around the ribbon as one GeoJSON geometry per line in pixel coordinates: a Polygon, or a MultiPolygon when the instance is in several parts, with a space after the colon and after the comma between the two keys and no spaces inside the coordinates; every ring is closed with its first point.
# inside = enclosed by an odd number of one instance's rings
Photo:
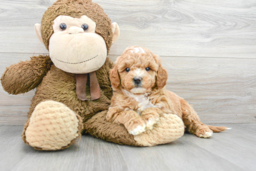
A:
{"type": "MultiPolygon", "coordinates": [[[[110,62],[110,61],[107,61],[110,62]]],[[[73,110],[75,113],[80,115],[84,122],[91,118],[95,113],[107,110],[110,105],[110,99],[105,95],[105,87],[108,85],[107,73],[105,64],[99,72],[97,73],[99,77],[99,82],[105,82],[100,84],[101,86],[101,97],[93,101],[81,101],[76,95],[76,75],[72,73],[66,73],[59,68],[52,65],[51,69],[48,71],[47,75],[43,78],[40,85],[37,87],[35,96],[33,97],[31,107],[28,113],[28,117],[33,113],[34,108],[37,104],[42,101],[52,100],[56,102],[61,102],[73,110]],[[106,79],[106,80],[102,80],[106,79]],[[105,87],[104,87],[105,86],[105,87]]],[[[87,86],[87,90],[89,90],[87,86]]],[[[87,91],[87,96],[90,99],[90,93],[87,91]]],[[[110,93],[109,91],[107,93],[110,93]]],[[[108,95],[108,94],[107,94],[108,95]]]]}

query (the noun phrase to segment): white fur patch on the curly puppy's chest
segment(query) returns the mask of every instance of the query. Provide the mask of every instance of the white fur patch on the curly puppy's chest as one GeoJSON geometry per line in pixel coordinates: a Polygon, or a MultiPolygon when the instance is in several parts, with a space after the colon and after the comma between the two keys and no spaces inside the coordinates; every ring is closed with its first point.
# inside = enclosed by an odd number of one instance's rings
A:
{"type": "MultiPolygon", "coordinates": [[[[150,108],[150,107],[157,107],[157,108],[161,108],[161,105],[157,105],[157,104],[152,104],[149,100],[148,94],[142,94],[142,95],[136,95],[133,93],[130,93],[126,90],[123,90],[123,92],[130,98],[132,98],[133,100],[139,102],[139,108],[137,109],[137,113],[141,115],[141,112],[143,110],[145,110],[146,108],[150,108]]],[[[127,109],[128,110],[128,109],[127,109]]]]}

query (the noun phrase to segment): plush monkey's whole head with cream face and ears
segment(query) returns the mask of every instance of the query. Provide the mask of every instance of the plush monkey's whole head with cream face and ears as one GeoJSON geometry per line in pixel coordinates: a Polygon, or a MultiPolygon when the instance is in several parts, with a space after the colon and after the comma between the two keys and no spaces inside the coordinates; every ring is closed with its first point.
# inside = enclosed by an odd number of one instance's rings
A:
{"type": "Polygon", "coordinates": [[[57,0],[35,25],[53,64],[68,73],[98,70],[119,37],[119,27],[91,0],[57,0]]]}

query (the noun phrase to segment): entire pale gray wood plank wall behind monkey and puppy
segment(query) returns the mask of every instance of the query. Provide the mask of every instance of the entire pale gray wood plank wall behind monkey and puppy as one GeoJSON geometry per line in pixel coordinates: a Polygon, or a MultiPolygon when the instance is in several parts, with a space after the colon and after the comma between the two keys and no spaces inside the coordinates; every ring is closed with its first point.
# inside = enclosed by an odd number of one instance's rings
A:
{"type": "MultiPolygon", "coordinates": [[[[34,24],[55,0],[0,0],[0,75],[48,53],[34,24]]],[[[149,48],[168,70],[167,89],[194,105],[205,123],[256,123],[255,0],[93,0],[120,27],[115,61],[130,45],[149,48]]],[[[0,86],[0,124],[24,124],[35,90],[0,86]]]]}

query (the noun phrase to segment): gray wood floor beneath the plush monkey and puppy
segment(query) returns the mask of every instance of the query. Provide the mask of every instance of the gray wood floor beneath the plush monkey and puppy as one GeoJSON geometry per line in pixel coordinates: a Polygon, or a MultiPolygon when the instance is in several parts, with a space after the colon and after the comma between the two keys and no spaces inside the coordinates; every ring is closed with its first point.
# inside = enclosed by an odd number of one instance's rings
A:
{"type": "Polygon", "coordinates": [[[185,133],[170,144],[154,147],[118,145],[84,135],[68,149],[43,152],[23,143],[23,126],[0,125],[0,170],[255,170],[256,124],[225,126],[232,129],[210,139],[185,133]]]}

